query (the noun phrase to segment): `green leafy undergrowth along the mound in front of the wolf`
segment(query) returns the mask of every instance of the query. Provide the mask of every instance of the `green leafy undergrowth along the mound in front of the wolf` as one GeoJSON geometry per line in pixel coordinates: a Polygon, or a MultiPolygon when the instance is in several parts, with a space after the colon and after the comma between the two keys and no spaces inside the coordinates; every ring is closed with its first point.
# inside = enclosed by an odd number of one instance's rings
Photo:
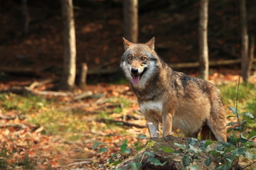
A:
{"type": "MultiPolygon", "coordinates": [[[[228,142],[216,142],[210,140],[198,141],[197,139],[191,138],[187,145],[184,145],[183,143],[174,143],[174,147],[171,147],[170,145],[170,147],[160,147],[159,149],[163,150],[165,153],[172,154],[171,157],[174,157],[175,154],[180,156],[183,155],[183,169],[198,169],[198,165],[194,162],[195,160],[198,161],[200,157],[205,157],[205,155],[207,155],[207,158],[204,164],[210,166],[210,164],[214,163],[215,170],[245,169],[252,166],[252,164],[255,164],[255,161],[253,162],[253,160],[256,159],[256,145],[255,142],[253,142],[253,139],[256,137],[256,132],[254,130],[247,131],[245,125],[248,121],[254,121],[254,116],[243,110],[238,111],[237,108],[229,107],[229,109],[232,111],[233,115],[229,115],[228,118],[235,117],[238,121],[235,123],[228,123],[227,125],[229,127],[228,133],[230,134],[228,142]],[[245,159],[248,159],[249,161],[247,162],[251,163],[240,166],[240,161],[245,159]]],[[[144,137],[146,136],[140,135],[139,139],[144,137]]],[[[182,141],[182,139],[180,140],[182,141]]],[[[144,147],[142,147],[142,143],[139,142],[130,146],[131,148],[128,146],[128,140],[120,143],[121,154],[112,154],[108,160],[110,169],[116,169],[115,166],[124,161],[126,158],[125,155],[129,154],[129,156],[131,156],[131,150],[139,152],[142,149],[152,147],[154,146],[154,141],[149,140],[144,147]]],[[[94,149],[98,149],[98,153],[107,152],[107,143],[96,142],[94,149]],[[98,146],[101,147],[98,149],[98,146]]],[[[160,162],[159,159],[156,158],[154,152],[145,152],[142,157],[138,157],[137,162],[129,163],[130,168],[141,169],[143,165],[139,160],[142,160],[143,157],[148,157],[147,162],[154,166],[164,166],[166,164],[166,162],[160,162]]]]}

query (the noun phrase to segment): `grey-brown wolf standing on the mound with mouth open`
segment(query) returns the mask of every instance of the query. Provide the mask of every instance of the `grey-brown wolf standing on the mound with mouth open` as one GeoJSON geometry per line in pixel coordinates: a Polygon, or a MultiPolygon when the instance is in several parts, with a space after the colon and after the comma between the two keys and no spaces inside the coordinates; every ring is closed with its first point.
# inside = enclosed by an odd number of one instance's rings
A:
{"type": "Polygon", "coordinates": [[[210,82],[176,72],[156,54],[154,38],[144,44],[123,38],[120,67],[137,96],[151,137],[181,130],[186,137],[227,142],[225,110],[210,82]]]}

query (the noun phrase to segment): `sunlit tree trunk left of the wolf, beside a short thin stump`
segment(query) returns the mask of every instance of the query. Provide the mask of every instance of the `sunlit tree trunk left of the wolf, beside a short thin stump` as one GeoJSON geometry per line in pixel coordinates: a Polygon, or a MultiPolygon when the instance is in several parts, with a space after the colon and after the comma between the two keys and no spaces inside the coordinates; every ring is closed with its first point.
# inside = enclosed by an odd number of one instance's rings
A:
{"type": "Polygon", "coordinates": [[[64,26],[64,63],[60,89],[70,90],[75,84],[75,19],[72,0],[61,0],[64,26]]]}

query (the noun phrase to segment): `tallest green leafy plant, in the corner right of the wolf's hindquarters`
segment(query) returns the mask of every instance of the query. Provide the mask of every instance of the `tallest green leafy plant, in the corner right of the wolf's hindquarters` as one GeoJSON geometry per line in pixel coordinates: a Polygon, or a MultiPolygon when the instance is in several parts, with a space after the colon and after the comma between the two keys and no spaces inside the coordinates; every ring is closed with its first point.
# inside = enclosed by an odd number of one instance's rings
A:
{"type": "Polygon", "coordinates": [[[252,141],[256,137],[256,132],[251,130],[249,133],[245,132],[245,125],[254,117],[248,112],[240,112],[237,108],[229,107],[233,115],[228,116],[237,118],[238,122],[228,123],[227,126],[232,126],[228,132],[231,132],[229,142],[220,143],[215,150],[211,150],[218,165],[216,169],[236,169],[239,165],[240,157],[247,157],[255,159],[253,149],[255,142],[252,141]]]}

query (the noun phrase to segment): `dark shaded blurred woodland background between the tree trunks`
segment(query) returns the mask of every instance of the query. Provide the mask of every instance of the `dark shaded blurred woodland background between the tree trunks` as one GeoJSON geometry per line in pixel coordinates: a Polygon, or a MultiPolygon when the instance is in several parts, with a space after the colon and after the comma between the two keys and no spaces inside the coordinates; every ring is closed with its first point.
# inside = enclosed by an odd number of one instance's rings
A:
{"type": "MultiPolygon", "coordinates": [[[[250,37],[256,30],[255,5],[256,1],[246,4],[250,37]]],[[[74,0],[73,6],[77,67],[86,62],[88,79],[92,81],[102,73],[99,69],[107,68],[106,73],[110,74],[117,72],[127,27],[123,2],[74,0]]],[[[156,52],[169,64],[198,62],[198,10],[199,1],[139,0],[138,42],[154,36],[156,52]]],[[[61,1],[1,0],[0,11],[0,79],[14,74],[60,76],[64,50],[61,1]]],[[[240,1],[210,1],[209,60],[240,59],[240,31],[240,1]]],[[[239,69],[240,63],[225,65],[227,67],[239,69]]],[[[188,72],[186,67],[183,69],[188,72]]],[[[198,67],[193,71],[197,72],[198,67]]],[[[112,80],[111,76],[107,79],[112,80]]]]}

